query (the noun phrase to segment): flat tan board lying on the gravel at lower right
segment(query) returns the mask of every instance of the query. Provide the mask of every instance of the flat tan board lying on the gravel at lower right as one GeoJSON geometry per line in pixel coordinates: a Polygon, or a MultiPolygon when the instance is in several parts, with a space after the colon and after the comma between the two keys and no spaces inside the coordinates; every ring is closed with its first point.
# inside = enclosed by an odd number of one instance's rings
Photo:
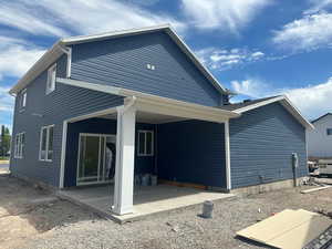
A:
{"type": "Polygon", "coordinates": [[[283,249],[301,249],[332,225],[325,216],[286,209],[237,232],[238,236],[283,249]]]}

